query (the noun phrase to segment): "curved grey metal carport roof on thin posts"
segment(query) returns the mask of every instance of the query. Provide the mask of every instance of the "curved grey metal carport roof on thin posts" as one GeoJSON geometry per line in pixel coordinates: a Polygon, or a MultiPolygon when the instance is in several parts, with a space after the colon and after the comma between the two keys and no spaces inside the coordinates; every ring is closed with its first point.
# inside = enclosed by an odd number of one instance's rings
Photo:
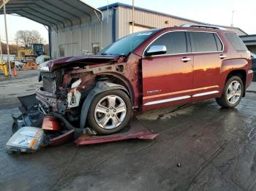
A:
{"type": "MultiPolygon", "coordinates": [[[[4,14],[2,4],[0,0],[0,15],[4,14]]],[[[7,14],[27,17],[56,29],[103,19],[102,12],[84,0],[9,0],[6,10],[7,14]]]]}

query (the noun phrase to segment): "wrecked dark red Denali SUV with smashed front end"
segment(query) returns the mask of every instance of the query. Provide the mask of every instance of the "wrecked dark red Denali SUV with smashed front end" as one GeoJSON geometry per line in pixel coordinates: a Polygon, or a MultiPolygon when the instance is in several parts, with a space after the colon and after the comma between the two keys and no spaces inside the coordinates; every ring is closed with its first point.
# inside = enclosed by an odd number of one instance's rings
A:
{"type": "Polygon", "coordinates": [[[215,26],[142,31],[97,55],[60,58],[39,68],[41,111],[99,134],[124,128],[132,110],[210,98],[235,107],[253,77],[244,43],[215,26]]]}

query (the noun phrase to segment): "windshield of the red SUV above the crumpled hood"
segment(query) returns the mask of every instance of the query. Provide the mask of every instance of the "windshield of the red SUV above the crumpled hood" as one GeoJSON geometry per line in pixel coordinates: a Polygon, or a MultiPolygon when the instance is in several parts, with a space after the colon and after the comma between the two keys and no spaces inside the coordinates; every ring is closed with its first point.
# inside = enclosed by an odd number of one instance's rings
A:
{"type": "Polygon", "coordinates": [[[118,41],[114,42],[108,47],[100,51],[99,55],[129,55],[130,52],[135,50],[146,39],[155,34],[159,29],[152,29],[148,31],[141,31],[135,34],[124,36],[118,41]]]}

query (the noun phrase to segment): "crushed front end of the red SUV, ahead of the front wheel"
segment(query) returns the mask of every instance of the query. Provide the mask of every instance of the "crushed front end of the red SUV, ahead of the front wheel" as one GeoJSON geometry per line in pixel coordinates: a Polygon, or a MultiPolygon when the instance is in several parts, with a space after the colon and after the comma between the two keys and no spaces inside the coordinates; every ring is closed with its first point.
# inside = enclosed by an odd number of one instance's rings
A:
{"type": "Polygon", "coordinates": [[[79,128],[83,101],[95,85],[97,74],[117,71],[119,56],[91,55],[60,58],[39,66],[42,87],[36,90],[43,114],[61,114],[79,128]]]}

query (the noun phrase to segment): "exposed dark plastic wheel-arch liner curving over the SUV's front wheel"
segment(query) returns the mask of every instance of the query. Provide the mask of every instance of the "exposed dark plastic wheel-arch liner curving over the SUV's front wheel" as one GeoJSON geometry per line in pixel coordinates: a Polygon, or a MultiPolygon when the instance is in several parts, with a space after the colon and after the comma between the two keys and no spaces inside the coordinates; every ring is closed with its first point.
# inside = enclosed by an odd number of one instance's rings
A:
{"type": "Polygon", "coordinates": [[[81,114],[80,114],[80,128],[81,129],[85,128],[87,114],[88,114],[89,108],[91,106],[91,101],[93,101],[94,97],[96,95],[98,95],[99,93],[106,92],[109,90],[124,90],[127,93],[127,95],[129,95],[128,90],[122,85],[117,85],[117,84],[113,84],[110,82],[97,82],[95,87],[87,95],[86,100],[83,101],[83,106],[82,106],[81,114]]]}

